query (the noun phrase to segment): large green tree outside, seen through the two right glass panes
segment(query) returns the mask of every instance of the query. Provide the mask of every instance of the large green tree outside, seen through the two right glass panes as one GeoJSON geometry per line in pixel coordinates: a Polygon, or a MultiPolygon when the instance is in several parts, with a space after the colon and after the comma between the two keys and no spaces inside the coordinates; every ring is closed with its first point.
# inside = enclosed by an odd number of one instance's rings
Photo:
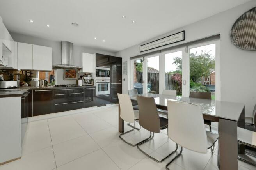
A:
{"type": "MultiPolygon", "coordinates": [[[[208,53],[208,51],[201,51],[201,54],[191,53],[189,57],[190,62],[190,80],[198,82],[202,76],[209,76],[211,71],[215,69],[215,58],[208,53]]],[[[174,62],[177,70],[182,69],[182,59],[175,57],[174,62]]]]}

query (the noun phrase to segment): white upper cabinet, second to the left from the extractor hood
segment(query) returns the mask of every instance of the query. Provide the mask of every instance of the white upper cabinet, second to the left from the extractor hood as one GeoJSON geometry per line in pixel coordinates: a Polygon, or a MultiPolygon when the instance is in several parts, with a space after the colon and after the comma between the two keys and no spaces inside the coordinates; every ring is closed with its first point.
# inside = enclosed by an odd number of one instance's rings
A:
{"type": "Polygon", "coordinates": [[[33,69],[33,45],[18,42],[18,69],[33,69]]]}

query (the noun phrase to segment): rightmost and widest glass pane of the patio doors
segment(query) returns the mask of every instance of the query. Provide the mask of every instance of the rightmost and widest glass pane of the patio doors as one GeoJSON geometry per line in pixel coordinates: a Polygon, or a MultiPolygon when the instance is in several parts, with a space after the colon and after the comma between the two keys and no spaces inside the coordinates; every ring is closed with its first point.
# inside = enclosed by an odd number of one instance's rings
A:
{"type": "Polygon", "coordinates": [[[216,44],[201,44],[189,48],[190,91],[211,92],[215,100],[216,44]]]}

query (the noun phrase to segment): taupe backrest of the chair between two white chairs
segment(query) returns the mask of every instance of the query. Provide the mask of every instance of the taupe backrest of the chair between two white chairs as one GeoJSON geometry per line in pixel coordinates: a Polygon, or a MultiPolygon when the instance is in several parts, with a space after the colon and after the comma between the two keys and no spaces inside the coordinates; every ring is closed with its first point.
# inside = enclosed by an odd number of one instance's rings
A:
{"type": "Polygon", "coordinates": [[[139,106],[139,123],[148,131],[160,132],[160,118],[153,97],[137,96],[139,106]]]}

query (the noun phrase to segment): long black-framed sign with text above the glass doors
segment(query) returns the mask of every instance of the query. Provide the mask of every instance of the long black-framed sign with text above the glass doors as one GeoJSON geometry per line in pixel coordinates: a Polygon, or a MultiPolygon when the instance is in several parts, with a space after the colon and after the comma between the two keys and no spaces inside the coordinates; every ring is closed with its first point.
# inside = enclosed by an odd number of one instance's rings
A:
{"type": "Polygon", "coordinates": [[[166,46],[168,44],[177,43],[179,41],[185,40],[185,31],[178,32],[176,34],[169,35],[167,37],[152,41],[150,43],[140,46],[140,53],[143,51],[148,51],[154,48],[166,46]]]}

